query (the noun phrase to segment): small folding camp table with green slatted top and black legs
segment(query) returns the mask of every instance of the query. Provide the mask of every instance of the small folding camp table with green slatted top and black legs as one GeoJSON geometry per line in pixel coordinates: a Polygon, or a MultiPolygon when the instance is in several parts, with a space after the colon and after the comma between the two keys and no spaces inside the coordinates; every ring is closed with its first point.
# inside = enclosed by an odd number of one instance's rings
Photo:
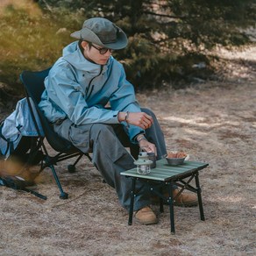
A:
{"type": "Polygon", "coordinates": [[[137,180],[146,182],[153,194],[160,197],[160,212],[163,212],[164,202],[169,205],[171,233],[174,234],[175,232],[175,198],[177,196],[180,196],[184,189],[188,189],[189,191],[197,194],[200,217],[201,220],[204,220],[201,188],[199,183],[199,171],[208,166],[208,163],[187,160],[185,160],[181,165],[169,166],[167,164],[167,160],[162,159],[156,161],[156,167],[151,169],[150,174],[138,174],[137,168],[132,168],[130,170],[122,172],[122,175],[125,175],[126,177],[132,177],[131,204],[129,210],[128,224],[132,224],[133,204],[134,197],[136,196],[135,185],[137,180]],[[191,181],[193,181],[194,179],[196,181],[196,184],[192,185],[191,181]],[[176,196],[173,196],[173,186],[181,188],[180,192],[176,196]],[[163,188],[167,188],[168,196],[164,195],[165,193],[163,193],[163,188]]]}

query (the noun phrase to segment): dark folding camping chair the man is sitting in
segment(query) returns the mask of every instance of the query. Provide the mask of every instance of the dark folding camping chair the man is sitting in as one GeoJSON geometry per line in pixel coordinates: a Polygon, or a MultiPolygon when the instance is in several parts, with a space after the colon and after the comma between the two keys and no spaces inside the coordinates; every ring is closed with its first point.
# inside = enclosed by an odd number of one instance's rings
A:
{"type": "Polygon", "coordinates": [[[60,189],[60,199],[67,199],[68,193],[63,191],[60,185],[60,180],[58,178],[58,175],[56,174],[54,165],[56,165],[57,162],[60,162],[62,160],[68,160],[70,158],[78,156],[77,160],[75,160],[75,163],[73,165],[68,166],[68,171],[72,173],[72,172],[75,172],[75,165],[78,163],[79,160],[81,160],[84,154],[89,158],[89,160],[91,160],[91,157],[89,156],[89,153],[82,153],[75,146],[73,146],[72,143],[69,142],[67,139],[60,138],[60,136],[53,131],[53,127],[48,123],[46,117],[39,109],[39,102],[41,99],[41,95],[45,90],[44,81],[46,76],[49,73],[49,70],[50,68],[47,68],[46,70],[39,71],[39,72],[24,71],[20,75],[20,80],[24,84],[25,96],[29,105],[29,109],[32,114],[32,119],[35,124],[35,128],[39,134],[39,147],[41,147],[44,153],[44,158],[41,164],[40,171],[42,171],[46,167],[51,168],[54,180],[56,181],[60,189]],[[45,133],[44,135],[40,134],[39,124],[37,124],[36,118],[35,118],[36,113],[33,112],[32,104],[29,98],[32,99],[32,102],[34,103],[34,106],[35,106],[35,110],[39,115],[42,130],[45,133]],[[45,138],[48,144],[57,153],[56,155],[50,156],[49,153],[47,152],[46,145],[44,143],[45,138]]]}

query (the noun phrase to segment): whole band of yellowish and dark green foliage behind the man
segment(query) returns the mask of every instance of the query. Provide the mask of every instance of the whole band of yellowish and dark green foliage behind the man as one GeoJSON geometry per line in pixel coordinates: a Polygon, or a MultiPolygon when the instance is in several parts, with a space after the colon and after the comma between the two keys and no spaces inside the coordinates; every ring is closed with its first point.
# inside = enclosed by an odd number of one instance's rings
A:
{"type": "Polygon", "coordinates": [[[36,14],[12,5],[1,14],[0,81],[17,94],[22,93],[19,73],[52,65],[63,46],[74,40],[69,34],[86,18],[109,18],[126,32],[129,46],[115,57],[137,89],[210,77],[214,70],[207,50],[217,44],[246,44],[249,39],[241,28],[255,25],[256,18],[254,0],[36,2],[36,14]],[[205,67],[195,68],[197,63],[205,67]]]}

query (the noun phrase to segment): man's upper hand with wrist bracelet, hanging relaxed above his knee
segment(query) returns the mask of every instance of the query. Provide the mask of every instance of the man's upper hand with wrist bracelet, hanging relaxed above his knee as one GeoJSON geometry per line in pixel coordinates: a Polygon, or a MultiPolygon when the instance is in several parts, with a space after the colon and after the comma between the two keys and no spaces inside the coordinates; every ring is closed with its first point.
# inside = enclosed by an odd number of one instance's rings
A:
{"type": "Polygon", "coordinates": [[[143,130],[146,130],[153,124],[153,117],[147,115],[145,112],[129,112],[125,120],[126,114],[126,112],[119,112],[118,121],[126,121],[128,124],[139,126],[143,130]]]}

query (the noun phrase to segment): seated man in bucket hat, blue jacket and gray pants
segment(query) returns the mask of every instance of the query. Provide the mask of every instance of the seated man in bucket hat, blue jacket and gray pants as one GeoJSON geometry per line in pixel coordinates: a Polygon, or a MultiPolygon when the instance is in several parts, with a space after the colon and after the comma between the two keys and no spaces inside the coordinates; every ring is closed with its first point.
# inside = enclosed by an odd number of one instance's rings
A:
{"type": "MultiPolygon", "coordinates": [[[[167,153],[165,139],[153,112],[140,109],[123,66],[112,57],[127,46],[125,33],[105,18],[90,18],[71,36],[78,40],[64,48],[51,68],[39,107],[61,137],[83,153],[93,151],[93,164],[129,210],[132,181],[120,173],[134,167],[134,159],[125,141],[160,159],[167,153]],[[110,108],[105,108],[107,103],[110,108]]],[[[135,218],[140,224],[155,224],[146,187],[139,181],[137,185],[135,218]]],[[[179,201],[192,205],[197,198],[182,193],[179,201]]]]}

